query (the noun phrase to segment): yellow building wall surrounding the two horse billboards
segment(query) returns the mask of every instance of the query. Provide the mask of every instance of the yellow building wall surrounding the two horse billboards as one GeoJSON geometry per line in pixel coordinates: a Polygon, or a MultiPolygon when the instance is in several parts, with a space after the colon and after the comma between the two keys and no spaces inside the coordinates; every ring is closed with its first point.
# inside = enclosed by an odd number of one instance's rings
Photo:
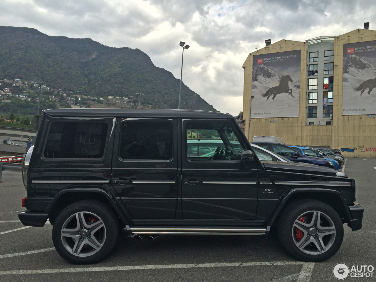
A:
{"type": "MultiPolygon", "coordinates": [[[[280,40],[250,53],[243,64],[244,92],[243,118],[246,120],[246,136],[252,141],[253,136],[274,135],[284,139],[285,144],[306,146],[331,146],[333,149],[354,149],[353,153],[343,152],[345,157],[376,158],[376,118],[367,115],[342,115],[342,71],[343,44],[376,40],[374,30],[356,29],[344,35],[337,36],[334,41],[334,103],[333,125],[305,125],[306,121],[306,66],[307,43],[290,40],[280,40]],[[252,96],[252,60],[253,55],[302,50],[300,65],[300,99],[299,117],[285,118],[249,118],[252,96]],[[281,45],[282,50],[280,50],[281,45]],[[275,123],[270,123],[275,120],[275,123]],[[374,150],[368,150],[375,148],[374,150]],[[367,150],[366,150],[367,149],[367,150]]],[[[359,95],[359,94],[355,94],[359,95]]],[[[376,91],[371,92],[376,95],[376,91]]],[[[376,113],[375,113],[376,114],[376,113]]]]}

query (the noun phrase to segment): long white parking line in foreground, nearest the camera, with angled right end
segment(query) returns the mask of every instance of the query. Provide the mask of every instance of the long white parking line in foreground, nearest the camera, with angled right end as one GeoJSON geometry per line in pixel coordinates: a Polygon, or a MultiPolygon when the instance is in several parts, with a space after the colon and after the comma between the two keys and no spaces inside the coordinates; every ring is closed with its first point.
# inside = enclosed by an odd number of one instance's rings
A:
{"type": "Polygon", "coordinates": [[[91,272],[91,271],[114,271],[114,270],[146,270],[146,269],[168,269],[168,268],[202,268],[202,267],[234,267],[234,266],[261,266],[261,265],[303,265],[297,277],[298,282],[309,282],[314,262],[297,261],[266,261],[266,262],[230,262],[212,264],[162,264],[162,265],[130,265],[114,267],[77,267],[77,268],[56,268],[56,269],[35,269],[35,270],[5,270],[0,275],[14,274],[41,274],[41,273],[67,273],[67,272],[91,272]]]}

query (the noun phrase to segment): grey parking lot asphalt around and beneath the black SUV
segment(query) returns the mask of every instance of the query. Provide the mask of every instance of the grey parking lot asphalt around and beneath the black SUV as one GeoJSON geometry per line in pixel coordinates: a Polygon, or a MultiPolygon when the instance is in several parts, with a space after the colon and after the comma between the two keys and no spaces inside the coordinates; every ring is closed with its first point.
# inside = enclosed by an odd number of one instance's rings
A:
{"type": "MultiPolygon", "coordinates": [[[[164,235],[137,241],[125,230],[104,261],[73,265],[53,249],[52,226],[18,221],[26,190],[18,171],[3,171],[0,183],[0,281],[337,281],[337,263],[376,267],[376,159],[347,158],[344,172],[356,181],[356,202],[364,207],[363,227],[344,224],[343,244],[325,262],[304,263],[267,237],[164,235]],[[24,228],[26,227],[26,228],[24,228]]],[[[376,273],[376,271],[374,271],[376,273]]],[[[375,277],[345,281],[376,281],[375,277]]]]}

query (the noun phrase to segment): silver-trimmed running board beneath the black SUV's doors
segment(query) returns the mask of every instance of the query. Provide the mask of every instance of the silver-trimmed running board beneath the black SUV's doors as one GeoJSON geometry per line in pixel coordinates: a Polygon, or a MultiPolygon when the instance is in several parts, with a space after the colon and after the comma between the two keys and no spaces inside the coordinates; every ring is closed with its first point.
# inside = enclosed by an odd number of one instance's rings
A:
{"type": "Polygon", "coordinates": [[[267,235],[269,230],[270,226],[267,228],[130,227],[130,231],[135,235],[267,235]]]}

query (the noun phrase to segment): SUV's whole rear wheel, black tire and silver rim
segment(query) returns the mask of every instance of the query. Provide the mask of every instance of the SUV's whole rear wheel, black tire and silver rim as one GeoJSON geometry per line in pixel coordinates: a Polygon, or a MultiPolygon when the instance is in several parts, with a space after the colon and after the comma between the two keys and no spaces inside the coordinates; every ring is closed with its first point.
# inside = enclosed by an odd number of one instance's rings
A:
{"type": "Polygon", "coordinates": [[[74,264],[104,259],[114,248],[119,223],[105,203],[81,200],[65,208],[56,218],[52,240],[56,251],[74,264]]]}

